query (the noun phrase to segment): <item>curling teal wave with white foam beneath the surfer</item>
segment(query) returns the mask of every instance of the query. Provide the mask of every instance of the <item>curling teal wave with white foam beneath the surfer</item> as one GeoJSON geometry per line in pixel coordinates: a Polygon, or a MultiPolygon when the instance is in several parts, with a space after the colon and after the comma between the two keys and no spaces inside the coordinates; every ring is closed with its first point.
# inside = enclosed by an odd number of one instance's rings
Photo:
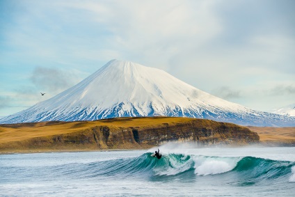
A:
{"type": "MultiPolygon", "coordinates": [[[[197,155],[168,154],[161,159],[151,156],[152,152],[129,159],[100,161],[85,166],[80,176],[105,176],[125,178],[194,179],[207,175],[223,175],[239,178],[239,182],[254,184],[264,180],[288,178],[295,181],[295,162],[274,161],[256,157],[209,157],[197,155]],[[90,173],[93,171],[95,173],[90,173]]],[[[74,173],[74,172],[72,172],[74,173]]]]}

